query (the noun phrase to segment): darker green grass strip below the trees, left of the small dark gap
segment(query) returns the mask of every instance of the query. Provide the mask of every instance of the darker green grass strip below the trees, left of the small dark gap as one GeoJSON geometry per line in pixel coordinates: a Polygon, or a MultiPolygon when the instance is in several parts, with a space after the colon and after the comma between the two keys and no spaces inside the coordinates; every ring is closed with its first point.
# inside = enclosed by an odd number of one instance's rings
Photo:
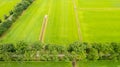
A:
{"type": "Polygon", "coordinates": [[[71,62],[0,62],[0,67],[72,67],[71,62]]]}

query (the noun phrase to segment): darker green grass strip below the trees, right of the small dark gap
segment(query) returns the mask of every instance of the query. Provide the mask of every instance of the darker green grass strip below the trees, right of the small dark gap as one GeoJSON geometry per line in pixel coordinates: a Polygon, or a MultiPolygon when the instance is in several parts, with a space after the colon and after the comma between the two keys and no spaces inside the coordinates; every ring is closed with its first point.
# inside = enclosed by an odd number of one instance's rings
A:
{"type": "Polygon", "coordinates": [[[120,62],[115,61],[80,61],[77,63],[77,67],[120,67],[120,62]]]}

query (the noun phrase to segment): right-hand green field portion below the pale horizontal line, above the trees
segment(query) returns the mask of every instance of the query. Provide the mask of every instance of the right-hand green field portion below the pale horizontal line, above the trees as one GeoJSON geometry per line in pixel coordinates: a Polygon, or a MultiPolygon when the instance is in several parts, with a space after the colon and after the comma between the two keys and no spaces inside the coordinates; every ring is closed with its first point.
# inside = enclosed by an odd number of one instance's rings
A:
{"type": "Polygon", "coordinates": [[[83,37],[87,42],[120,42],[120,11],[84,11],[83,37]]]}

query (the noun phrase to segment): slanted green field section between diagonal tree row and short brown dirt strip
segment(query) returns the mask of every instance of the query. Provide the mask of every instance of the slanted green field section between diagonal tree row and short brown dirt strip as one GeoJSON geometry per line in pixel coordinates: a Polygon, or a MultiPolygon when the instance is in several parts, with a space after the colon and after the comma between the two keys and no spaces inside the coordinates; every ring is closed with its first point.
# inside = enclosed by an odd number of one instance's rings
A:
{"type": "Polygon", "coordinates": [[[36,0],[1,38],[2,42],[39,40],[44,15],[48,12],[49,0],[36,0]]]}

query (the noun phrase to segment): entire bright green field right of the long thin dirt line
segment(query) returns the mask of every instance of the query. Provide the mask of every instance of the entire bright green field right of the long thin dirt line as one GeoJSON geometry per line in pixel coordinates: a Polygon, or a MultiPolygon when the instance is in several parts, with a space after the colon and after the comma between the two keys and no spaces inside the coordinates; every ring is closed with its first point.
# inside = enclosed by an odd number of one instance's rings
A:
{"type": "Polygon", "coordinates": [[[120,9],[116,9],[120,8],[119,0],[76,2],[79,3],[78,12],[83,41],[120,42],[120,9]]]}

